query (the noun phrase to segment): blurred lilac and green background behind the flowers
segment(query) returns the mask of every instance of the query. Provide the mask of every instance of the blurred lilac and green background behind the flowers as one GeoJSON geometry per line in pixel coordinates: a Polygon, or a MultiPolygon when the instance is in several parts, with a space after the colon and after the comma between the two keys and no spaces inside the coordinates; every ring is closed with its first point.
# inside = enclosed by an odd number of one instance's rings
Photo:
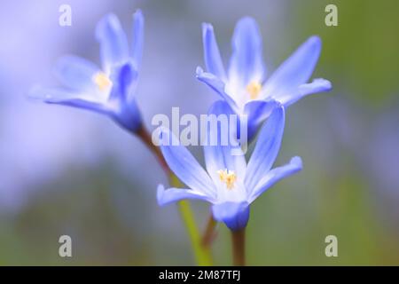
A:
{"type": "MultiPolygon", "coordinates": [[[[98,63],[94,29],[115,12],[131,33],[145,14],[145,54],[137,90],[145,123],[154,114],[205,114],[217,99],[195,79],[201,22],[213,23],[223,60],[237,20],[262,30],[269,72],[311,35],[324,47],[314,77],[333,91],[290,107],[277,164],[301,155],[304,170],[252,206],[248,264],[399,264],[399,2],[40,0],[0,4],[0,264],[190,265],[192,250],[176,206],[159,208],[167,183],[140,141],[104,116],[27,99],[35,83],[57,85],[56,60],[74,53],[98,63]],[[59,6],[72,27],[59,26],[59,6]],[[325,6],[338,27],[325,26],[325,6]],[[59,257],[59,236],[73,257],[59,257]],[[325,237],[338,257],[325,256],[325,237]]],[[[192,153],[202,161],[200,147],[192,153]]],[[[207,204],[192,202],[201,227],[207,204]]],[[[231,264],[224,225],[215,264],[231,264]]]]}

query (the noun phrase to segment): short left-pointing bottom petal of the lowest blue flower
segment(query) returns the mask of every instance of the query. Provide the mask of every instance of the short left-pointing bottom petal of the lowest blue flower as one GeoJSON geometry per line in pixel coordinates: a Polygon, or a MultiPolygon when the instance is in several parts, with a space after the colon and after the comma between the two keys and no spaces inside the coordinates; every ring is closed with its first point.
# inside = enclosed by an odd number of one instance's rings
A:
{"type": "Polygon", "coordinates": [[[197,199],[203,201],[210,201],[209,197],[201,192],[185,188],[169,188],[165,190],[163,185],[158,185],[157,201],[160,206],[167,205],[172,202],[181,201],[184,199],[197,199]]]}

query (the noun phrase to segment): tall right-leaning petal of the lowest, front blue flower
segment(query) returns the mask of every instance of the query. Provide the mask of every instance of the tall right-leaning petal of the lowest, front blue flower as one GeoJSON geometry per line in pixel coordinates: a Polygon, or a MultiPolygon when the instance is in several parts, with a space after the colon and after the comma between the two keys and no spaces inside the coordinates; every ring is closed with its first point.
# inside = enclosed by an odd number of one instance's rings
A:
{"type": "Polygon", "coordinates": [[[254,152],[246,167],[246,190],[250,193],[276,161],[284,133],[284,107],[275,108],[267,122],[262,126],[254,152]]]}

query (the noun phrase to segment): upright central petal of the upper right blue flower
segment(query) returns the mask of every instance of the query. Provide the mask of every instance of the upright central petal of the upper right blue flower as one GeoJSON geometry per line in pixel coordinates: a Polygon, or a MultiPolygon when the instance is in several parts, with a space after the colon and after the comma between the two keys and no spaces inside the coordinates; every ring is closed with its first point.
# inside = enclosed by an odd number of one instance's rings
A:
{"type": "Polygon", "coordinates": [[[262,36],[254,19],[246,17],[239,20],[232,37],[232,49],[229,80],[241,87],[250,81],[262,83],[265,73],[262,36]]]}

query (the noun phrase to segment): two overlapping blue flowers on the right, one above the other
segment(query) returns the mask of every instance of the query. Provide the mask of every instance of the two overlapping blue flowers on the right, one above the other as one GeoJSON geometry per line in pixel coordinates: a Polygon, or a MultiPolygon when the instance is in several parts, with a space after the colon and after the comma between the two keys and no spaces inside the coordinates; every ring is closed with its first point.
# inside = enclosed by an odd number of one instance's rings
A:
{"type": "Polygon", "coordinates": [[[239,20],[227,72],[210,24],[203,24],[202,36],[207,72],[197,67],[197,78],[223,99],[210,107],[209,114],[246,115],[248,138],[254,138],[259,129],[260,134],[247,164],[244,154],[231,154],[231,146],[204,146],[207,171],[184,147],[161,146],[170,169],[190,189],[164,190],[160,185],[157,196],[161,205],[188,198],[208,201],[216,221],[239,230],[248,221],[249,204],[281,178],[301,170],[300,157],[270,170],[283,138],[286,106],[309,94],[330,91],[332,85],[325,79],[307,83],[321,51],[317,36],[302,43],[267,79],[262,38],[254,19],[239,20]]]}

